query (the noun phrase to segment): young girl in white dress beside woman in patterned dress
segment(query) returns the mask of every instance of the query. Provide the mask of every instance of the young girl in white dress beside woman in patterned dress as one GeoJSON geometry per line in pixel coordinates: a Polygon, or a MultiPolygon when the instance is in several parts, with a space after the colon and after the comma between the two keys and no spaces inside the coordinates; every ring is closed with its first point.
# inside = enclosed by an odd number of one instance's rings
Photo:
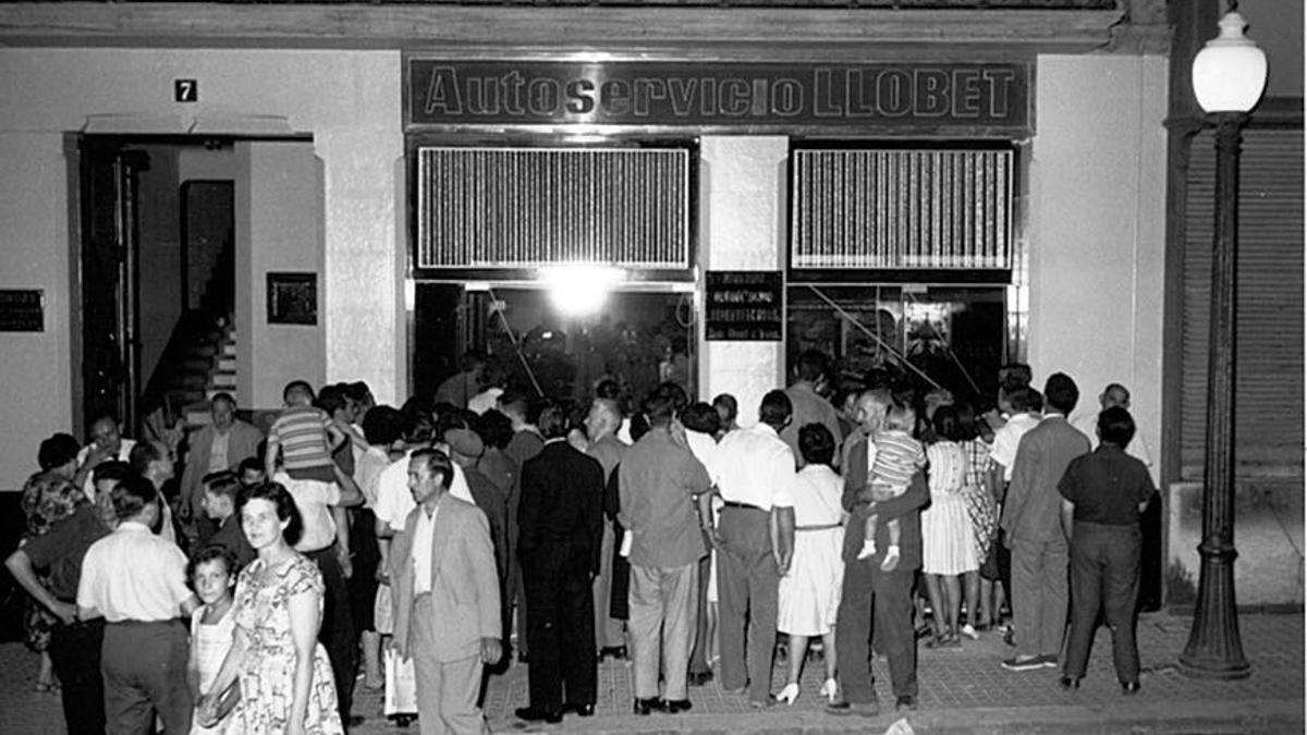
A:
{"type": "MultiPolygon", "coordinates": [[[[237,586],[237,560],[222,547],[207,547],[191,560],[190,572],[195,594],[204,603],[191,613],[191,660],[186,670],[191,697],[199,702],[200,692],[208,692],[213,685],[231,647],[231,591],[237,586]]],[[[204,727],[200,713],[195,713],[191,735],[221,732],[225,732],[222,722],[204,727]]]]}

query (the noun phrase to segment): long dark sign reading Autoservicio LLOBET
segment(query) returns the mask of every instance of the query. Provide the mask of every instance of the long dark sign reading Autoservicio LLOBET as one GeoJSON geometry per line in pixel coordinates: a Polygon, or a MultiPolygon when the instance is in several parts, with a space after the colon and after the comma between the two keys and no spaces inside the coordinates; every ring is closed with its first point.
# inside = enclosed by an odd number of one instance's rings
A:
{"type": "Polygon", "coordinates": [[[1021,63],[744,64],[408,59],[410,126],[1010,128],[1021,63]]]}

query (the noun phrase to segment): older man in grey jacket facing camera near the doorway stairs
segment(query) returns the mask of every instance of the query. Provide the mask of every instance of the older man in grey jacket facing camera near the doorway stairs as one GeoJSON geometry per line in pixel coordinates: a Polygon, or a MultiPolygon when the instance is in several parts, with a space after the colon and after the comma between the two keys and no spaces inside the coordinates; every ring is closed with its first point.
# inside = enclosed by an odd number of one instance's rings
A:
{"type": "Polygon", "coordinates": [[[186,463],[182,470],[182,502],[178,517],[187,536],[204,545],[217,527],[204,513],[204,476],[240,467],[243,459],[259,453],[263,432],[237,419],[237,400],[220,392],[209,402],[212,421],[187,438],[186,463]]]}

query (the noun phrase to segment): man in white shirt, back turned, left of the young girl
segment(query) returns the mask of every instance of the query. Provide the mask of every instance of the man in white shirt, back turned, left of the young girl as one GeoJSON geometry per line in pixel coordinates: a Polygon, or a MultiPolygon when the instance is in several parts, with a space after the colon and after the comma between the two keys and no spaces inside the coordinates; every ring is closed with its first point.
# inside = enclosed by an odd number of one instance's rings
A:
{"type": "Polygon", "coordinates": [[[158,714],[169,735],[191,731],[187,628],[199,600],[186,586],[186,555],[150,532],[158,490],[128,477],[112,490],[118,528],[91,544],[77,585],[77,617],[105,617],[101,671],[106,732],[150,731],[158,714]]]}

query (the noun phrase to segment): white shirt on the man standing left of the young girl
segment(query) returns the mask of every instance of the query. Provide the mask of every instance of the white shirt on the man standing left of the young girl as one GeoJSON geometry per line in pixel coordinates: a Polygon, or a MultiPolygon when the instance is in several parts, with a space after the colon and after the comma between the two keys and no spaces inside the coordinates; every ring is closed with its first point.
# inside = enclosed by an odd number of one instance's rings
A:
{"type": "Polygon", "coordinates": [[[136,521],[119,523],[82,558],[77,606],[98,609],[110,623],[173,620],[190,598],[186,555],[136,521]]]}

